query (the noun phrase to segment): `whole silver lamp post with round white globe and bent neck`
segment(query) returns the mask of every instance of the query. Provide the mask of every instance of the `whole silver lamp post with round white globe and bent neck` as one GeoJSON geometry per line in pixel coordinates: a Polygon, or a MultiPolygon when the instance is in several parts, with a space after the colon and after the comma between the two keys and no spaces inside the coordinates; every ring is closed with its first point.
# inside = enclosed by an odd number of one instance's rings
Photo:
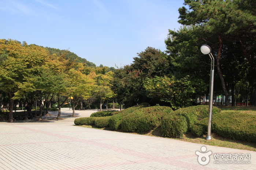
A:
{"type": "Polygon", "coordinates": [[[214,84],[214,57],[212,49],[206,44],[200,48],[203,54],[209,54],[211,58],[211,71],[210,71],[210,92],[209,92],[209,115],[208,115],[208,133],[206,140],[211,140],[211,127],[212,127],[212,104],[213,104],[213,84],[214,84]]]}

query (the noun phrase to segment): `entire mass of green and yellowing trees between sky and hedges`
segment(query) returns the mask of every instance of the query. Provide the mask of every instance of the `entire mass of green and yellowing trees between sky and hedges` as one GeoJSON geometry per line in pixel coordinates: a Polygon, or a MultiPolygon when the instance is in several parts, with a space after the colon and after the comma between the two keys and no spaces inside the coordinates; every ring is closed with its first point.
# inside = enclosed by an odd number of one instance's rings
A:
{"type": "Polygon", "coordinates": [[[203,44],[216,61],[214,104],[256,106],[255,1],[185,0],[184,5],[178,9],[182,27],[169,30],[166,51],[147,47],[117,69],[96,67],[68,50],[1,39],[0,112],[7,107],[11,122],[17,104],[31,112],[35,101],[39,120],[44,107],[58,107],[59,119],[61,108],[71,103],[73,111],[145,102],[173,110],[208,104],[211,63],[200,52],[203,44]]]}

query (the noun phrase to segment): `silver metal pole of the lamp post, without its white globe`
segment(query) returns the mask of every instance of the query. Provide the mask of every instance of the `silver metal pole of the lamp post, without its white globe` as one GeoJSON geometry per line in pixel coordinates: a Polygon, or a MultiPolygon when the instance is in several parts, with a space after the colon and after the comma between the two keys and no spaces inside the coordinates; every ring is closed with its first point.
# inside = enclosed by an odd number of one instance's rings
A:
{"type": "Polygon", "coordinates": [[[209,115],[208,115],[208,133],[206,140],[211,140],[211,128],[212,128],[212,104],[213,104],[213,85],[214,85],[214,57],[212,53],[211,57],[211,71],[210,71],[210,92],[209,92],[209,115]]]}

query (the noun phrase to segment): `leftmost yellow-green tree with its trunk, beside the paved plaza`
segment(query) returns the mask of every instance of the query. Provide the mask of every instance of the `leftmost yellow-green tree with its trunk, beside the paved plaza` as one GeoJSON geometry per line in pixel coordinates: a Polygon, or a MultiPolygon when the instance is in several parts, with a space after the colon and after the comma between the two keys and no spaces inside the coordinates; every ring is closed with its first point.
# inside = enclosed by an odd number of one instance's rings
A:
{"type": "Polygon", "coordinates": [[[10,112],[8,122],[13,119],[13,107],[15,93],[20,86],[30,78],[39,66],[43,65],[47,58],[47,51],[39,46],[23,44],[16,40],[0,40],[0,55],[7,55],[0,65],[0,80],[2,90],[7,92],[10,97],[10,112]]]}

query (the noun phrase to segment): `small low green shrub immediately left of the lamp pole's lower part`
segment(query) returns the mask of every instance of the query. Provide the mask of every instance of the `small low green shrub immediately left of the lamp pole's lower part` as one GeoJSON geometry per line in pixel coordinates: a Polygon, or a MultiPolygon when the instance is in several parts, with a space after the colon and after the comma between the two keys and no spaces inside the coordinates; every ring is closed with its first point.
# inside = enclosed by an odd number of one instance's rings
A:
{"type": "MultiPolygon", "coordinates": [[[[215,114],[216,115],[216,114],[215,114]]],[[[194,123],[190,127],[191,133],[194,136],[202,136],[208,131],[208,117],[194,123]]]]}

